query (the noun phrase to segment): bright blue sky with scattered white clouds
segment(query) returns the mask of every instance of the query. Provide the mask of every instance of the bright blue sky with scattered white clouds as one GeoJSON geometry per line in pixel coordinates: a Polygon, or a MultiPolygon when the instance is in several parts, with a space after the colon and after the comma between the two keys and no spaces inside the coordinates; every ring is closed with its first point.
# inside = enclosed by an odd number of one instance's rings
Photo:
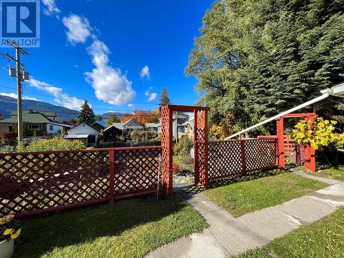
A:
{"type": "MultiPolygon", "coordinates": [[[[194,105],[197,81],[184,68],[212,2],[42,0],[41,47],[22,58],[24,98],[72,109],[87,99],[102,114],[154,109],[167,87],[174,104],[194,105]]],[[[0,59],[0,92],[14,94],[7,65],[0,59]]]]}

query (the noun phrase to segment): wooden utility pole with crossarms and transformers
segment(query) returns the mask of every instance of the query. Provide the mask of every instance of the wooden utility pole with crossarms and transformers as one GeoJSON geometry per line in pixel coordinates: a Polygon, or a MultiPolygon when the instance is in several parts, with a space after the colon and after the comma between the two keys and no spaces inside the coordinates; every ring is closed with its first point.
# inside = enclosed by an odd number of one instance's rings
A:
{"type": "Polygon", "coordinates": [[[14,47],[14,50],[16,51],[16,57],[14,58],[10,54],[6,53],[6,56],[8,56],[10,59],[12,59],[14,62],[16,62],[16,70],[14,72],[14,69],[12,67],[9,67],[10,76],[17,77],[17,118],[18,118],[18,146],[21,145],[21,142],[23,142],[23,110],[21,105],[21,80],[28,80],[29,79],[29,73],[25,72],[21,67],[23,67],[23,63],[21,63],[21,54],[28,55],[28,52],[23,50],[19,45],[16,43],[13,43],[11,41],[8,41],[12,47],[14,47]]]}

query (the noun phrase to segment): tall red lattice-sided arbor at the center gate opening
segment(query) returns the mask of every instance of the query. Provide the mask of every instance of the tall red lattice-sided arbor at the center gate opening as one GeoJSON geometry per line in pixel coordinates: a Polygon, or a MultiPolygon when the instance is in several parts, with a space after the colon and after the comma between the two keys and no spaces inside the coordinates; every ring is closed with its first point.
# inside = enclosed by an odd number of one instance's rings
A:
{"type": "Polygon", "coordinates": [[[172,178],[172,114],[193,112],[195,184],[208,188],[208,110],[209,107],[164,105],[161,107],[162,187],[167,195],[173,194],[172,178]]]}

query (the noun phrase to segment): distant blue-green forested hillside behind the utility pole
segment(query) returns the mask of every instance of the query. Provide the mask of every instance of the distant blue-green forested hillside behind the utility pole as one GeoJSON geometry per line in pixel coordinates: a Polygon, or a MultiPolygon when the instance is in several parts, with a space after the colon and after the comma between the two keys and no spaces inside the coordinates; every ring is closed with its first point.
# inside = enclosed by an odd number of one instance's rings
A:
{"type": "MultiPolygon", "coordinates": [[[[23,110],[28,109],[34,109],[35,111],[52,111],[62,120],[76,118],[79,114],[76,110],[52,105],[50,103],[36,100],[23,100],[23,110]]],[[[3,118],[9,118],[11,111],[17,111],[17,99],[0,95],[0,113],[3,114],[3,118]]]]}

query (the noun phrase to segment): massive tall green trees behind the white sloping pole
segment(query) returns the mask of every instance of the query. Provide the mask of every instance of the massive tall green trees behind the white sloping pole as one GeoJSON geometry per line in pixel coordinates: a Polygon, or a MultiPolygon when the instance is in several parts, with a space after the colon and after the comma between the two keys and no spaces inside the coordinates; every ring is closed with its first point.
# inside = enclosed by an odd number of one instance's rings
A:
{"type": "MultiPolygon", "coordinates": [[[[343,6],[344,0],[215,1],[186,67],[199,81],[199,102],[211,107],[211,124],[230,117],[238,131],[343,82],[343,6]]],[[[344,122],[340,100],[302,111],[313,110],[344,122]]]]}

